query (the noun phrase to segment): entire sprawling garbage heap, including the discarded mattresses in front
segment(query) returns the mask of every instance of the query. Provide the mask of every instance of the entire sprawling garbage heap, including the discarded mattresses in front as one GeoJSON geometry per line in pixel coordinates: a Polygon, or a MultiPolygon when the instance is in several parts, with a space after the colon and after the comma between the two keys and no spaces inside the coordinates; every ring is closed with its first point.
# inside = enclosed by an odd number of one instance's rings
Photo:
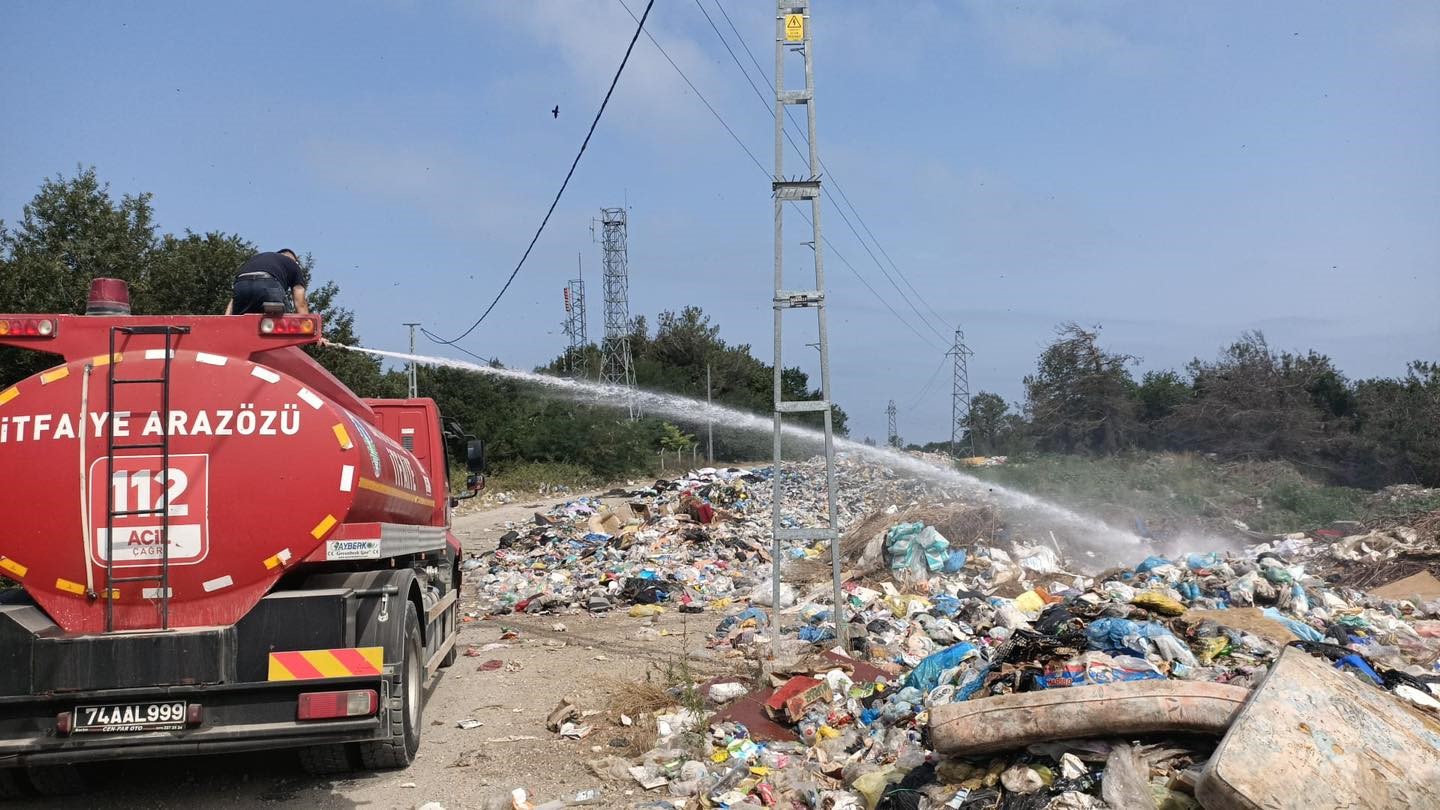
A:
{"type": "MultiPolygon", "coordinates": [[[[1053,538],[1007,530],[992,504],[855,487],[840,649],[827,549],[789,549],[772,610],[768,474],[655,487],[618,556],[613,540],[576,545],[572,532],[513,543],[487,575],[500,610],[531,610],[534,597],[510,601],[520,575],[544,579],[553,605],[645,605],[632,579],[674,585],[657,607],[703,604],[719,614],[708,646],[721,659],[766,662],[757,683],[683,686],[648,752],[590,762],[635,791],[616,806],[1440,807],[1440,579],[1426,568],[1440,561],[1440,519],[1231,552],[1142,548],[1132,566],[1086,574],[1053,538]],[[732,483],[746,494],[711,502],[719,525],[670,523],[685,491],[732,483]],[[687,535],[698,526],[707,538],[687,535]],[[586,553],[596,545],[606,551],[586,553]],[[1404,575],[1359,589],[1346,584],[1358,565],[1404,575]],[[681,708],[681,690],[704,711],[681,708]]],[[[599,515],[559,509],[572,526],[599,515]]]]}

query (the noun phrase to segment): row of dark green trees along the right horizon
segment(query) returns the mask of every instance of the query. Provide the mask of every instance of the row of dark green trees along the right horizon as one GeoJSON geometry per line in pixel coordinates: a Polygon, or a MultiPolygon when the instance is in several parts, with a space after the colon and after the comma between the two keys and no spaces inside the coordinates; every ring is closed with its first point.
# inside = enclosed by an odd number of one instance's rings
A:
{"type": "MultiPolygon", "coordinates": [[[[1096,331],[1063,324],[1025,378],[1028,418],[1014,418],[999,444],[1008,454],[1027,445],[1110,455],[1192,451],[1287,461],[1352,487],[1440,486],[1440,363],[1417,360],[1404,378],[1352,383],[1325,355],[1277,352],[1259,331],[1214,360],[1191,360],[1184,373],[1148,372],[1139,385],[1126,370],[1132,362],[1102,349],[1096,331]]],[[[972,412],[976,440],[989,437],[991,411],[1001,404],[984,405],[986,412],[972,412]]],[[[1308,496],[1297,493],[1273,494],[1299,513],[1325,513],[1319,503],[1300,504],[1308,496]]]]}

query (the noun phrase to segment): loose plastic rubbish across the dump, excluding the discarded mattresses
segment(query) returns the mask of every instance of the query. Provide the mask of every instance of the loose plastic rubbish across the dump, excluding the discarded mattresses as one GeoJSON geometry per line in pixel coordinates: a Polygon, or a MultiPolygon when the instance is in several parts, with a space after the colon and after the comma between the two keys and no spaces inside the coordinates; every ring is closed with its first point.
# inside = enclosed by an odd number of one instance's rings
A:
{"type": "MultiPolygon", "coordinates": [[[[822,470],[816,460],[780,473],[786,504],[801,504],[788,525],[822,523],[822,470]]],[[[1195,784],[1217,738],[1032,741],[948,758],[930,747],[930,715],[1025,692],[1149,689],[1117,686],[1136,682],[1244,695],[1292,647],[1440,722],[1440,598],[1424,601],[1414,585],[1414,598],[1381,598],[1344,584],[1359,562],[1440,549],[1413,529],[1259,536],[1240,551],[1178,555],[1139,546],[1132,568],[1089,572],[1083,553],[1064,551],[1084,543],[842,457],[850,644],[840,649],[828,578],[786,577],[772,610],[773,477],[706,468],[613,493],[619,506],[569,500],[511,526],[467,575],[491,615],[589,611],[648,623],[703,611],[714,617],[716,654],[766,662],[759,682],[693,685],[713,713],[677,699],[649,718],[657,738],[645,754],[590,762],[634,793],[625,806],[1201,807],[1195,784]]],[[[827,543],[780,553],[788,572],[824,564],[828,577],[827,543]]],[[[564,729],[579,715],[562,703],[549,719],[564,729]]]]}

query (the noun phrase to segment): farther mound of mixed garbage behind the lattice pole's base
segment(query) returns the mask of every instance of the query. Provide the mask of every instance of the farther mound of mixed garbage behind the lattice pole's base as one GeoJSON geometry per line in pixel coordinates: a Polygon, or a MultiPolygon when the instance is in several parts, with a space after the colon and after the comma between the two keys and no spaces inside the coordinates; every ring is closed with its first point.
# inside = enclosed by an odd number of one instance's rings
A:
{"type": "MultiPolygon", "coordinates": [[[[884,503],[932,491],[924,483],[841,458],[841,525],[884,503]]],[[[723,610],[765,601],[770,569],[773,468],[704,468],[636,490],[615,490],[619,506],[579,497],[511,525],[500,548],[467,564],[481,613],[608,613],[723,610]],[[760,594],[763,591],[763,594],[760,594]]],[[[785,525],[827,522],[824,461],[786,466],[785,525]]],[[[818,558],[819,546],[786,548],[791,559],[818,558]]],[[[793,594],[786,591],[793,600],[793,594]]],[[[769,604],[765,601],[765,604],[769,604]]]]}

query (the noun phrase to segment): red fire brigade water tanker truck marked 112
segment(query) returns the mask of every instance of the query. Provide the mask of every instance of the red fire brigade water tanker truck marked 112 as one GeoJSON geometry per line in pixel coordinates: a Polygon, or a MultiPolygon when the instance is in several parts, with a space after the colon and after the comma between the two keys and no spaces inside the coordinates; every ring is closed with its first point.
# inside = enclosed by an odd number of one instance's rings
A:
{"type": "Polygon", "coordinates": [[[92,311],[0,314],[59,356],[0,388],[0,797],[117,757],[409,764],[458,630],[435,404],[356,396],[300,349],[318,316],[92,311]]]}

